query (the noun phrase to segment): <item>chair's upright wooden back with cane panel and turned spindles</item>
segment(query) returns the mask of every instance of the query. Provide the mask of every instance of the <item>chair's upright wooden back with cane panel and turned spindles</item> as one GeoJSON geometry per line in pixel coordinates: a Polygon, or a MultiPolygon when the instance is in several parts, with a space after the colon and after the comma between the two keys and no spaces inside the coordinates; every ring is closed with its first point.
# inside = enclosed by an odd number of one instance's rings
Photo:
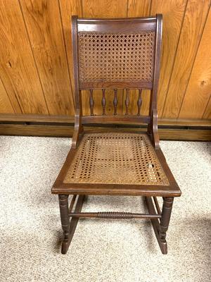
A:
{"type": "Polygon", "coordinates": [[[82,91],[89,90],[90,116],[82,123],[150,123],[157,109],[162,15],[149,18],[94,19],[72,16],[76,114],[82,116],[82,91]],[[94,113],[93,91],[101,89],[102,114],[94,113]],[[106,114],[106,90],[113,90],[113,115],[106,114]],[[126,90],[125,114],[117,113],[117,92],[126,90]],[[129,115],[129,90],[139,90],[136,115],[129,115]],[[141,116],[141,92],[151,90],[148,116],[141,116]]]}

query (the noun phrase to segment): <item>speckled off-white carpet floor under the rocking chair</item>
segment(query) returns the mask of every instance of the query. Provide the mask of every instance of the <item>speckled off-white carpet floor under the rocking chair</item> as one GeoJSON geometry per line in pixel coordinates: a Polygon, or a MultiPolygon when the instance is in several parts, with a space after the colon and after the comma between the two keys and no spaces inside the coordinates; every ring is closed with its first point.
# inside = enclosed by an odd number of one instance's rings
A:
{"type": "MultiPolygon", "coordinates": [[[[162,255],[144,220],[81,219],[60,254],[58,198],[51,185],[68,138],[0,137],[0,281],[211,281],[211,146],[161,142],[180,185],[162,255]]],[[[84,211],[144,212],[140,197],[89,197],[84,211]]]]}

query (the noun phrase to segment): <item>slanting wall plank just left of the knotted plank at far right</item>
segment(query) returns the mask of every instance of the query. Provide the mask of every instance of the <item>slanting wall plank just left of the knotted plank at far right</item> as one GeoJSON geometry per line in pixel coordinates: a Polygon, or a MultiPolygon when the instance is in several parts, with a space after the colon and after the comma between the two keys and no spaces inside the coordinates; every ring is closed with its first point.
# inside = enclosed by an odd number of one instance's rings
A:
{"type": "Polygon", "coordinates": [[[209,8],[210,0],[188,0],[162,115],[164,118],[178,118],[179,116],[209,8]]]}

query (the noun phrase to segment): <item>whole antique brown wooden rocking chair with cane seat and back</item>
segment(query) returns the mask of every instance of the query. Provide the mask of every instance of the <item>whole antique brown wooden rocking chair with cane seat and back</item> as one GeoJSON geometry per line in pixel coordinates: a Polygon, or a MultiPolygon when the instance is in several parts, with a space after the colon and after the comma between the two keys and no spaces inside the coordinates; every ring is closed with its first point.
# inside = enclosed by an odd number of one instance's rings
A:
{"type": "MultiPolygon", "coordinates": [[[[52,193],[58,194],[63,228],[62,253],[81,217],[151,219],[163,254],[174,197],[181,191],[159,147],[157,93],[162,15],[151,18],[93,19],[72,17],[75,74],[75,131],[72,147],[52,193]],[[102,90],[102,115],[94,114],[94,89],[102,90]],[[114,114],[106,115],[106,89],[113,90],[114,114]],[[125,114],[117,115],[117,91],[126,90],[125,114]],[[137,94],[137,114],[129,115],[129,90],[137,94]],[[141,90],[151,90],[148,116],[140,115],[141,90]],[[82,114],[81,90],[89,90],[90,116],[82,114]],[[147,133],[84,133],[85,124],[148,124],[147,133]],[[68,196],[72,195],[70,207],[68,196]],[[86,195],[144,196],[148,214],[81,212],[86,195]],[[162,211],[157,197],[162,197],[162,211]],[[74,211],[72,212],[73,207],[74,211]]],[[[94,127],[93,127],[94,128],[94,127]]]]}

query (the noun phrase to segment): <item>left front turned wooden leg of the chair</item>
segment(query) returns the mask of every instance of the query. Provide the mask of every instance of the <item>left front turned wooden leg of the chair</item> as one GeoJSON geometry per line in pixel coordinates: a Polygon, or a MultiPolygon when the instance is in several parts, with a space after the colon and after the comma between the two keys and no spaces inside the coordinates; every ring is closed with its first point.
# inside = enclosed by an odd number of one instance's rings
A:
{"type": "Polygon", "coordinates": [[[64,240],[68,241],[70,230],[70,219],[68,216],[68,195],[58,195],[60,207],[60,221],[63,228],[64,240]]]}

